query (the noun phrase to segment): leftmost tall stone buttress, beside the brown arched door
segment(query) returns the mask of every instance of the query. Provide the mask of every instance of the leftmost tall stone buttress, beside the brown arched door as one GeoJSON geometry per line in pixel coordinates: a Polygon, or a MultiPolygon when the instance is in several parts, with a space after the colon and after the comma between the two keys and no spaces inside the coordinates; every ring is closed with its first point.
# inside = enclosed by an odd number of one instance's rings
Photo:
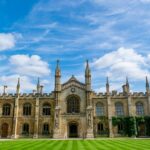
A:
{"type": "Polygon", "coordinates": [[[16,139],[18,135],[18,114],[19,114],[19,95],[15,98],[14,118],[13,118],[13,133],[12,138],[16,139]]]}

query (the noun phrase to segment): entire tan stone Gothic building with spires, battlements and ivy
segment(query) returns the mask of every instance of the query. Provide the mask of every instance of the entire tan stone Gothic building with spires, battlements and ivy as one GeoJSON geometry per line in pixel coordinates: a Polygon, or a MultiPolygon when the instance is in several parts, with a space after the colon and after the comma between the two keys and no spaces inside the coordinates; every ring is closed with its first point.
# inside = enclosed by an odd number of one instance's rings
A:
{"type": "Polygon", "coordinates": [[[55,88],[0,95],[0,138],[94,138],[101,136],[149,136],[150,90],[146,78],[145,93],[131,93],[128,79],[123,91],[95,93],[91,89],[91,71],[86,63],[85,83],[74,76],[61,83],[59,61],[55,70],[55,88]],[[130,130],[130,131],[129,131],[130,130]]]}

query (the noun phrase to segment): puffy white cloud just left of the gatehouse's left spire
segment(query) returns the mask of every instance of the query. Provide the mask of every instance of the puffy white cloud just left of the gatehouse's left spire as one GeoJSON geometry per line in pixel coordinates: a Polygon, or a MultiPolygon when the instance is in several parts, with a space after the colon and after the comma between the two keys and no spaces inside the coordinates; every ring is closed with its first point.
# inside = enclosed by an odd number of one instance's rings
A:
{"type": "Polygon", "coordinates": [[[28,76],[46,76],[50,74],[48,63],[43,61],[40,56],[32,55],[13,55],[9,59],[11,68],[14,72],[28,76]]]}

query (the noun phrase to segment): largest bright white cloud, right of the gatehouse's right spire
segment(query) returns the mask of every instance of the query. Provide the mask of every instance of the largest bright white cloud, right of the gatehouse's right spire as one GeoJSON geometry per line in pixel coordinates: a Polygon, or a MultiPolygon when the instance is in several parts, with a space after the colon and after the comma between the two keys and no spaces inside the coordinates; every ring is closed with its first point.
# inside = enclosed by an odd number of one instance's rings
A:
{"type": "Polygon", "coordinates": [[[119,48],[116,51],[105,54],[91,64],[97,74],[111,77],[112,80],[122,80],[125,76],[133,80],[143,80],[150,77],[149,57],[142,56],[134,49],[119,48]]]}

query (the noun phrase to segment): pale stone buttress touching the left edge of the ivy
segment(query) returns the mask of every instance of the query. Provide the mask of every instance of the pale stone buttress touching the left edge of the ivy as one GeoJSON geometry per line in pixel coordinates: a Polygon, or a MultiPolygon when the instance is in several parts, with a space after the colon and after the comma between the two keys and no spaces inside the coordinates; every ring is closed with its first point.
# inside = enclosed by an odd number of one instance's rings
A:
{"type": "Polygon", "coordinates": [[[109,125],[109,137],[114,137],[112,129],[112,104],[110,95],[107,96],[107,113],[108,113],[108,125],[109,125]]]}

